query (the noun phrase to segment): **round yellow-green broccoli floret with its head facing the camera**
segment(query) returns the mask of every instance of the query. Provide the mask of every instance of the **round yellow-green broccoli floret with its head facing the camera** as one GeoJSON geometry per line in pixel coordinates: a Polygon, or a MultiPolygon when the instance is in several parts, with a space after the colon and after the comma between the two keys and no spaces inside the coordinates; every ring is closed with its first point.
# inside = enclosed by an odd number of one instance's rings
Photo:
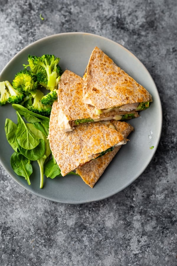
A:
{"type": "Polygon", "coordinates": [[[39,83],[31,70],[23,69],[15,75],[12,86],[20,92],[30,92],[37,89],[39,83]]]}

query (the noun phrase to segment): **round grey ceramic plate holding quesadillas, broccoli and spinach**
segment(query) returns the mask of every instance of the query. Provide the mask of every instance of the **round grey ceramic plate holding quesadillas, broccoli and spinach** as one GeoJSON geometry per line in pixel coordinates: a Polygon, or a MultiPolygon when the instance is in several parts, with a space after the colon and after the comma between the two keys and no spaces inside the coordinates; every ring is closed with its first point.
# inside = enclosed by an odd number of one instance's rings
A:
{"type": "MultiPolygon", "coordinates": [[[[130,123],[135,128],[130,142],[124,145],[93,189],[86,185],[79,176],[46,178],[44,188],[40,189],[40,173],[37,164],[30,178],[31,185],[23,177],[17,176],[10,166],[13,153],[4,132],[6,118],[17,122],[15,110],[10,104],[0,107],[0,162],[12,178],[30,192],[46,199],[63,203],[85,203],[109,197],[131,184],[150,163],[160,140],[162,127],[162,109],[157,88],[144,65],[127,49],[112,40],[89,33],[61,33],[52,35],[30,44],[6,65],[0,74],[0,81],[12,82],[14,74],[27,64],[28,54],[41,56],[55,54],[60,57],[62,69],[70,69],[78,75],[83,72],[90,54],[98,46],[113,61],[142,84],[153,96],[150,108],[143,111],[130,123]],[[151,150],[150,147],[154,146],[151,150]]],[[[153,174],[153,173],[152,173],[153,174]]]]}

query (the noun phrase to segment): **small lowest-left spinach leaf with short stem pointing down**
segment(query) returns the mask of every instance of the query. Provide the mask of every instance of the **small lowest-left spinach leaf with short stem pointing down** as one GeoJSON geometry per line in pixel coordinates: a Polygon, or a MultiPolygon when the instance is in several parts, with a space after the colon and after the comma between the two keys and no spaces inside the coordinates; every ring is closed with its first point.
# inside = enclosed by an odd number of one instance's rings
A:
{"type": "Polygon", "coordinates": [[[22,154],[14,152],[10,158],[10,164],[14,172],[19,176],[23,176],[30,185],[30,175],[32,174],[30,160],[25,158],[22,154]]]}

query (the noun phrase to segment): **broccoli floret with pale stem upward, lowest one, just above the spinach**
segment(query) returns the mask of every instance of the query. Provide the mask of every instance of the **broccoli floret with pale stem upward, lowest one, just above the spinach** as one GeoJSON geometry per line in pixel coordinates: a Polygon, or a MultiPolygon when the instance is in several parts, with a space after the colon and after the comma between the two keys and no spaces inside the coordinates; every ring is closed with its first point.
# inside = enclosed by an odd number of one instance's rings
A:
{"type": "Polygon", "coordinates": [[[50,112],[52,110],[51,105],[44,105],[41,103],[41,99],[44,96],[44,93],[42,93],[41,90],[33,90],[30,92],[33,97],[33,104],[31,106],[28,106],[28,109],[34,113],[38,113],[42,116],[48,116],[50,115],[50,112]]]}

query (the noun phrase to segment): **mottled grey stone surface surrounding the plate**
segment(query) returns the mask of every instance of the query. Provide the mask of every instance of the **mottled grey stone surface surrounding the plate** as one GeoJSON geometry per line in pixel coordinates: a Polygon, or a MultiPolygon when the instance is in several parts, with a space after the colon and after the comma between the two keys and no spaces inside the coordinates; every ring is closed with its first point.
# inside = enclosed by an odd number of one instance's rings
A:
{"type": "Polygon", "coordinates": [[[147,67],[163,107],[160,144],[133,184],[83,205],[30,194],[0,166],[0,265],[177,265],[177,2],[0,0],[0,71],[35,40],[75,31],[110,38],[147,67]]]}

